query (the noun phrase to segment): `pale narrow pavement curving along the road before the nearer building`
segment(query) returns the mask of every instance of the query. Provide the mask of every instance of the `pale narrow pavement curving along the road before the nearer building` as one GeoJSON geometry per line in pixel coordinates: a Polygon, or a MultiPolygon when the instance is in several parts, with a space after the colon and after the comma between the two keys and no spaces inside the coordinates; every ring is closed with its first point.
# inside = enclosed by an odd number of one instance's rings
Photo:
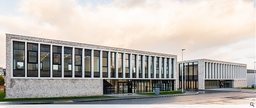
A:
{"type": "MultiPolygon", "coordinates": [[[[66,103],[66,102],[91,102],[91,101],[105,101],[105,100],[127,100],[127,99],[138,99],[138,98],[158,98],[158,97],[171,97],[171,96],[188,96],[195,95],[199,92],[186,91],[183,94],[172,94],[172,95],[138,95],[123,96],[123,97],[110,97],[110,98],[88,98],[88,99],[71,99],[71,100],[35,100],[35,101],[14,101],[14,102],[0,102],[0,104],[52,104],[52,103],[66,103]]],[[[118,95],[118,94],[117,94],[118,95]]],[[[123,94],[122,94],[123,95],[123,94]]]]}

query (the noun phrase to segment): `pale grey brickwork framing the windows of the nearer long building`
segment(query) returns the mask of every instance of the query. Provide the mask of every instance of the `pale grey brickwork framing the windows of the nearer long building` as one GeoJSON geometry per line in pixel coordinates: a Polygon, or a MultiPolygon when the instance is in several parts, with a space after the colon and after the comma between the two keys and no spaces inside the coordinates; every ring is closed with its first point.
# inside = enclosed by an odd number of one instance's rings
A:
{"type": "MultiPolygon", "coordinates": [[[[6,34],[6,98],[103,95],[102,78],[11,78],[11,39],[177,58],[176,55],[6,34]],[[93,84],[93,86],[92,86],[93,84]]],[[[177,59],[175,59],[177,62],[177,59]]],[[[176,63],[176,69],[177,69],[176,63]]],[[[178,77],[176,70],[176,78],[178,77]]],[[[177,81],[177,80],[176,80],[177,81]]],[[[174,90],[178,84],[174,81],[174,90]]]]}

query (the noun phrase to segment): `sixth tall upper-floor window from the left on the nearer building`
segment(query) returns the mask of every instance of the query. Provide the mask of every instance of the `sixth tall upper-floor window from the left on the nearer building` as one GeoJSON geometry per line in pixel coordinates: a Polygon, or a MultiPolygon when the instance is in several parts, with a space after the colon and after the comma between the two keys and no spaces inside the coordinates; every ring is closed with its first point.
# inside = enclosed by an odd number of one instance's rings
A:
{"type": "Polygon", "coordinates": [[[82,77],[82,49],[75,48],[75,77],[82,77]]]}

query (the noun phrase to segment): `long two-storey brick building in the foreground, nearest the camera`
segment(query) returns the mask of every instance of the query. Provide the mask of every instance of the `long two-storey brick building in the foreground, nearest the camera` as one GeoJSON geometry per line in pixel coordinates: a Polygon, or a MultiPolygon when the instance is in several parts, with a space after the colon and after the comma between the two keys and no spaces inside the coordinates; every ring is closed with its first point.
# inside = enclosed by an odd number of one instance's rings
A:
{"type": "Polygon", "coordinates": [[[6,98],[177,90],[177,56],[6,34],[6,98]]]}

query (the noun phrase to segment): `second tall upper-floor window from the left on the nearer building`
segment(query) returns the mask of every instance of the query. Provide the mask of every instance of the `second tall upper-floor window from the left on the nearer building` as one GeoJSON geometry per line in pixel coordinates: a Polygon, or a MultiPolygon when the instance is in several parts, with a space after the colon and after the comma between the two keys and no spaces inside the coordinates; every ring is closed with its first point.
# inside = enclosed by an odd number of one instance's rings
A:
{"type": "Polygon", "coordinates": [[[38,44],[27,44],[28,50],[28,77],[38,77],[38,44]]]}

